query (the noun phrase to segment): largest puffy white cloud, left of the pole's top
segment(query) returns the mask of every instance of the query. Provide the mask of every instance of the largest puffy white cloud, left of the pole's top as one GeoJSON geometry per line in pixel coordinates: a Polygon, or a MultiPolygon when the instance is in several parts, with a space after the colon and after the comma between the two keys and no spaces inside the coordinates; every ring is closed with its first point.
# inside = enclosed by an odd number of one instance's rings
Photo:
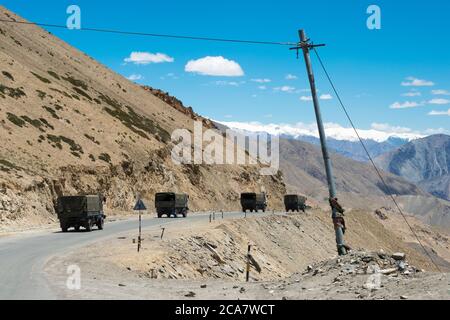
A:
{"type": "Polygon", "coordinates": [[[190,60],[184,70],[204,76],[240,77],[244,75],[244,71],[236,61],[225,59],[222,56],[207,56],[190,60]]]}

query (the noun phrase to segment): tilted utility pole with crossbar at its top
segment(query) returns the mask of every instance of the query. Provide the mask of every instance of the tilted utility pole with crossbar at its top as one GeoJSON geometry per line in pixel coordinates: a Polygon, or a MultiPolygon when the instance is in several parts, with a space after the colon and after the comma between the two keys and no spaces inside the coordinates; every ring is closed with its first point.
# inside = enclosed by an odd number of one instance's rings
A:
{"type": "MultiPolygon", "coordinates": [[[[325,162],[325,171],[326,171],[326,175],[327,175],[328,190],[330,193],[330,199],[335,199],[336,198],[336,186],[334,184],[333,169],[331,166],[330,155],[328,154],[327,138],[325,135],[325,129],[323,127],[322,114],[320,112],[320,105],[319,105],[319,98],[317,97],[316,83],[315,83],[315,79],[314,79],[314,73],[312,70],[311,58],[309,56],[309,51],[311,49],[314,49],[315,47],[322,47],[322,46],[324,46],[324,44],[318,44],[318,45],[313,44],[310,41],[310,39],[308,39],[306,37],[306,33],[304,30],[299,30],[299,37],[300,37],[300,42],[298,43],[297,47],[291,48],[291,50],[297,50],[297,57],[298,57],[299,50],[303,51],[303,57],[305,58],[305,64],[306,64],[306,71],[308,73],[309,84],[311,87],[311,95],[312,95],[313,103],[314,103],[314,111],[316,114],[317,127],[319,129],[320,144],[322,146],[322,155],[323,155],[323,160],[325,162]]],[[[331,217],[333,219],[334,230],[336,233],[336,245],[337,245],[338,254],[345,255],[345,254],[347,254],[347,249],[344,244],[343,226],[341,223],[339,223],[340,216],[334,207],[332,207],[331,217]]]]}

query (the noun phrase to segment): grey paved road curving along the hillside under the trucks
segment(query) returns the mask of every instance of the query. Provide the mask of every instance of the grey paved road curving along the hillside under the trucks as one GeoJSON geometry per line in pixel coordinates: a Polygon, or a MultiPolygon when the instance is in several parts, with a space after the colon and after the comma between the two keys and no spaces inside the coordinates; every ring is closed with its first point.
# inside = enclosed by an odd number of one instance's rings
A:
{"type": "MultiPolygon", "coordinates": [[[[225,218],[242,217],[242,213],[226,213],[225,218]]],[[[195,214],[187,219],[145,218],[143,228],[168,223],[192,223],[209,220],[209,213],[195,214]]],[[[81,246],[137,230],[137,219],[105,224],[103,231],[69,232],[48,231],[34,235],[0,239],[0,300],[58,299],[46,282],[43,268],[52,256],[70,252],[81,246]]]]}

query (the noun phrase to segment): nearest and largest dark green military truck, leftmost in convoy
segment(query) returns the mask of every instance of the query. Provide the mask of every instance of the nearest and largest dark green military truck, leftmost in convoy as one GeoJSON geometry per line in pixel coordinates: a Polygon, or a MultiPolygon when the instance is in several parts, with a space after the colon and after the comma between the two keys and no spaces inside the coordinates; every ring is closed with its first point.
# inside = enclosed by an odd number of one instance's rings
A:
{"type": "Polygon", "coordinates": [[[56,202],[56,213],[61,230],[69,228],[79,231],[81,227],[91,232],[94,225],[103,230],[105,214],[103,213],[104,197],[102,195],[63,196],[56,202]]]}

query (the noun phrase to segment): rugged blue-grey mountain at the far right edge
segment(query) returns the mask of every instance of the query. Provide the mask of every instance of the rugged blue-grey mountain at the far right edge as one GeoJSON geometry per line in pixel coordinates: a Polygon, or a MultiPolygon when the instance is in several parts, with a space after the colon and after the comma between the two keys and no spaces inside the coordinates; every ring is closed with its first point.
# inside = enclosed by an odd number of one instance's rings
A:
{"type": "Polygon", "coordinates": [[[450,136],[411,141],[376,158],[376,163],[436,197],[450,200],[450,136]]]}

